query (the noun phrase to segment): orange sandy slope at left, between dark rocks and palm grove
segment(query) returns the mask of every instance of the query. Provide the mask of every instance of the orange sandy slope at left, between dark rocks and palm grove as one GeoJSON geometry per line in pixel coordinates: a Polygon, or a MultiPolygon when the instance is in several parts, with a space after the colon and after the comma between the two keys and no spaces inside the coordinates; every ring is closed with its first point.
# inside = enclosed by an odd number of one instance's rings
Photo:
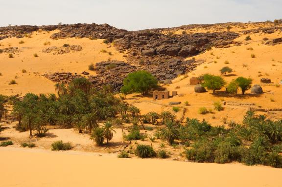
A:
{"type": "Polygon", "coordinates": [[[31,38],[17,39],[13,37],[0,41],[0,49],[6,47],[19,48],[19,52],[11,59],[8,58],[8,53],[0,53],[1,94],[54,93],[55,83],[41,77],[41,75],[48,72],[71,72],[81,75],[83,71],[94,74],[94,72],[88,70],[88,65],[91,63],[106,61],[109,58],[125,60],[122,57],[123,54],[118,53],[114,47],[109,47],[111,45],[103,43],[103,40],[89,40],[87,38],[50,39],[49,37],[55,32],[58,31],[33,32],[31,38]],[[20,41],[24,41],[24,43],[20,44],[20,41]],[[44,45],[45,42],[50,42],[50,44],[44,45]],[[62,47],[65,43],[80,45],[82,50],[59,55],[54,55],[52,52],[42,52],[43,49],[50,46],[62,47]],[[102,49],[112,52],[112,55],[101,53],[102,49]],[[35,58],[34,53],[37,53],[39,57],[35,58]],[[27,73],[22,73],[22,69],[25,69],[27,73]],[[15,76],[18,79],[15,79],[15,76]],[[9,85],[9,82],[13,79],[18,84],[9,85]]]}

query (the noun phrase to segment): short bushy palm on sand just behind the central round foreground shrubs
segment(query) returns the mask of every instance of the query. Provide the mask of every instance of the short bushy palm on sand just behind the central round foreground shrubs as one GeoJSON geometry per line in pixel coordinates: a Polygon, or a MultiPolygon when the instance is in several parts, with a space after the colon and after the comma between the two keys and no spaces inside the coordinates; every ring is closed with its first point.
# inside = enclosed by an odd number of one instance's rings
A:
{"type": "Polygon", "coordinates": [[[173,121],[167,121],[165,125],[166,128],[163,128],[161,131],[161,139],[172,145],[174,143],[174,139],[178,139],[180,137],[179,129],[173,121]]]}

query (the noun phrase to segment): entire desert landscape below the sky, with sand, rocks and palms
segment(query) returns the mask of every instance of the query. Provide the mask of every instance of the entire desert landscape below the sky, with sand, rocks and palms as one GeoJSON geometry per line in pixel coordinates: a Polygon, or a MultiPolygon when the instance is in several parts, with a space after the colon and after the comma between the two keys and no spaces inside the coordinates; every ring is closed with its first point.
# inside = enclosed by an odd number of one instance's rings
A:
{"type": "Polygon", "coordinates": [[[0,186],[279,187],[281,51],[281,20],[0,27],[0,186]]]}

